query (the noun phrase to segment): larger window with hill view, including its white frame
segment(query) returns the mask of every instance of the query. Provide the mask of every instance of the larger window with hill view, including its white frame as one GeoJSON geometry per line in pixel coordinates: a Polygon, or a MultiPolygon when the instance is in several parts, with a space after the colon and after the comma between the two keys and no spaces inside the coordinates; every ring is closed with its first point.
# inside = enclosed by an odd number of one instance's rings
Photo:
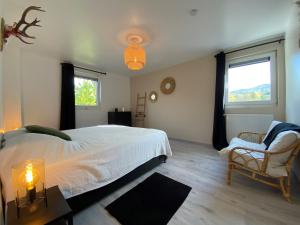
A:
{"type": "Polygon", "coordinates": [[[227,105],[271,104],[276,101],[275,53],[227,63],[227,105]]]}

